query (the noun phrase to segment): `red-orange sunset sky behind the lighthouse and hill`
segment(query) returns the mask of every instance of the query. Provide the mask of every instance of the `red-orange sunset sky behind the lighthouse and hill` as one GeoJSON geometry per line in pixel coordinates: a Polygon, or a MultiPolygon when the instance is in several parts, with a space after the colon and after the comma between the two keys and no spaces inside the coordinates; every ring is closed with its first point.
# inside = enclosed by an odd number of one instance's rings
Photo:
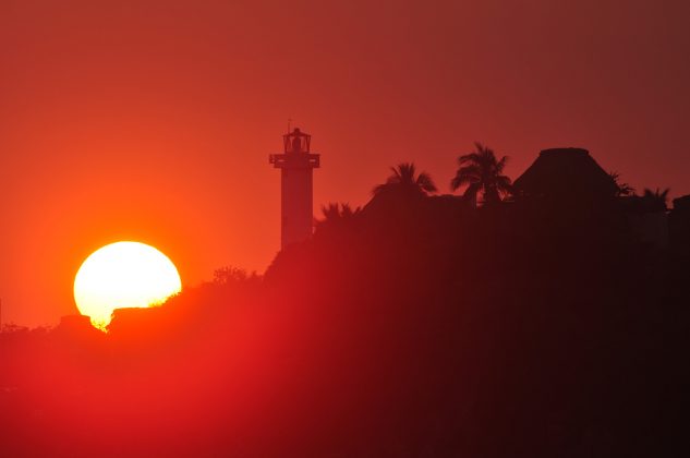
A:
{"type": "Polygon", "coordinates": [[[401,160],[448,192],[474,141],[512,178],[582,146],[638,190],[690,193],[688,17],[680,0],[3,0],[3,320],[75,313],[76,269],[117,240],[185,285],[263,272],[289,118],[323,155],[317,208],[364,204],[401,160]]]}

